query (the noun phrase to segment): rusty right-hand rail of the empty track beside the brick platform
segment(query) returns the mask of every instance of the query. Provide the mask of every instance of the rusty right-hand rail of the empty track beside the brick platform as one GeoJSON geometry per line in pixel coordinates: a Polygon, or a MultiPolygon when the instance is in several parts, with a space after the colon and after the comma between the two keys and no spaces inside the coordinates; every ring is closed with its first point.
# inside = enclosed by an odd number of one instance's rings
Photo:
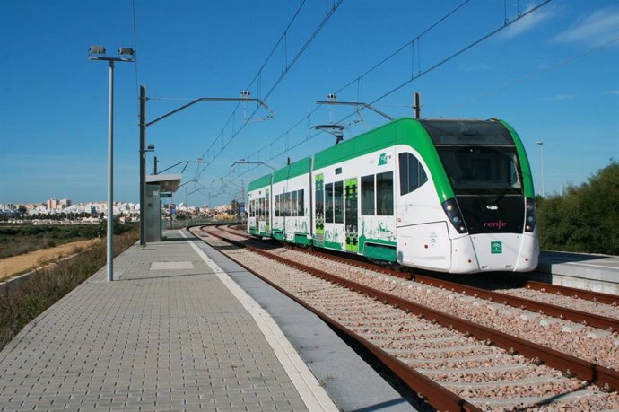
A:
{"type": "MultiPolygon", "coordinates": [[[[229,241],[223,237],[221,237],[221,239],[224,241],[229,241]]],[[[479,340],[482,340],[482,341],[486,341],[489,344],[492,344],[494,346],[499,346],[512,354],[518,353],[519,355],[524,355],[528,358],[539,360],[540,362],[543,362],[544,364],[547,364],[550,367],[560,370],[563,373],[566,373],[567,375],[573,374],[583,381],[588,381],[589,383],[596,383],[597,385],[600,385],[600,386],[604,385],[607,388],[613,388],[615,390],[619,390],[619,372],[618,371],[582,360],[572,355],[563,354],[562,352],[559,352],[557,350],[551,349],[549,347],[541,346],[533,342],[529,342],[520,337],[514,337],[514,336],[511,336],[509,334],[503,333],[495,329],[490,329],[482,325],[477,325],[469,320],[463,320],[456,316],[450,315],[448,313],[433,310],[423,305],[407,301],[398,296],[378,291],[369,286],[361,285],[356,282],[343,279],[339,276],[328,274],[327,272],[324,272],[322,270],[319,270],[313,267],[307,267],[299,262],[285,259],[279,255],[269,253],[265,250],[259,250],[254,247],[244,245],[243,243],[239,241],[234,241],[234,242],[241,247],[245,247],[248,250],[267,256],[270,259],[275,259],[277,261],[280,261],[281,263],[285,265],[296,267],[299,270],[308,272],[315,276],[322,277],[338,285],[344,285],[353,290],[356,290],[359,293],[371,295],[372,297],[379,299],[381,302],[391,304],[404,311],[412,311],[415,314],[419,316],[423,316],[426,319],[435,320],[438,323],[440,323],[442,326],[458,329],[460,332],[463,332],[463,333],[470,333],[473,337],[479,340]]],[[[342,259],[342,258],[338,258],[338,259],[342,259]]],[[[362,262],[359,262],[359,263],[362,263],[362,262]]],[[[383,272],[388,273],[388,272],[391,272],[391,270],[384,269],[383,272]]],[[[433,283],[438,282],[437,279],[433,279],[433,278],[427,278],[427,279],[432,280],[433,283]]],[[[445,281],[440,281],[440,282],[445,282],[445,281]]],[[[455,285],[460,289],[463,287],[465,288],[470,287],[470,286],[453,284],[451,282],[448,282],[447,284],[455,285]]],[[[473,288],[473,289],[478,289],[478,288],[473,288]]],[[[479,290],[484,291],[483,289],[479,289],[479,290]]],[[[487,292],[487,291],[484,291],[484,292],[487,292]]],[[[565,311],[564,308],[562,308],[562,310],[565,311]]]]}

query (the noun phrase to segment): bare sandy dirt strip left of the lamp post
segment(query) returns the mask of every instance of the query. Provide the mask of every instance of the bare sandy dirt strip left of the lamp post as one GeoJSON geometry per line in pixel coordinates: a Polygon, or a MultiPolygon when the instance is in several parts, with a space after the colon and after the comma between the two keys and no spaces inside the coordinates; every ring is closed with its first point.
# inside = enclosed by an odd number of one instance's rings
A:
{"type": "Polygon", "coordinates": [[[44,266],[50,261],[69,256],[74,253],[76,248],[89,248],[92,243],[97,241],[96,239],[91,239],[89,241],[73,241],[55,248],[34,250],[24,255],[0,259],[0,280],[34,269],[35,267],[44,266]]]}

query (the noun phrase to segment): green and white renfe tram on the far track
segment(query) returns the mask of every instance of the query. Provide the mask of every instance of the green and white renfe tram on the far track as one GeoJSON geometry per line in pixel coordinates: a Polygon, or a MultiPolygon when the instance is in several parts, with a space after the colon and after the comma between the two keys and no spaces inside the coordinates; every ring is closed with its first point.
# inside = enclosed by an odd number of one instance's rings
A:
{"type": "Polygon", "coordinates": [[[450,273],[537,266],[527,154],[501,120],[390,122],[253,181],[248,205],[257,236],[450,273]]]}

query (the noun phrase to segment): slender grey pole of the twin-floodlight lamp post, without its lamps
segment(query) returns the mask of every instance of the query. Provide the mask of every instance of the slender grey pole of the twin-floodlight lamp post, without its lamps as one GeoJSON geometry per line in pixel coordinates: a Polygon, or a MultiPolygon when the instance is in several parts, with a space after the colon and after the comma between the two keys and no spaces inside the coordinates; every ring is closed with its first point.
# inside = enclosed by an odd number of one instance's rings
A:
{"type": "Polygon", "coordinates": [[[114,280],[114,60],[109,60],[108,116],[108,282],[114,280]]]}

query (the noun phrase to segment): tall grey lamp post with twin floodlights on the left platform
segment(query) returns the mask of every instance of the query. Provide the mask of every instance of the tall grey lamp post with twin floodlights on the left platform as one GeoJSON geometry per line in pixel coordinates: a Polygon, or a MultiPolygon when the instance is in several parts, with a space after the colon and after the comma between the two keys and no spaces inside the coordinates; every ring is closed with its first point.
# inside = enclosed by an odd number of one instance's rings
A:
{"type": "Polygon", "coordinates": [[[109,62],[109,105],[108,105],[108,253],[107,275],[108,281],[114,280],[112,261],[114,259],[114,63],[135,62],[133,48],[118,48],[120,57],[105,57],[103,46],[91,46],[88,58],[109,62]]]}

